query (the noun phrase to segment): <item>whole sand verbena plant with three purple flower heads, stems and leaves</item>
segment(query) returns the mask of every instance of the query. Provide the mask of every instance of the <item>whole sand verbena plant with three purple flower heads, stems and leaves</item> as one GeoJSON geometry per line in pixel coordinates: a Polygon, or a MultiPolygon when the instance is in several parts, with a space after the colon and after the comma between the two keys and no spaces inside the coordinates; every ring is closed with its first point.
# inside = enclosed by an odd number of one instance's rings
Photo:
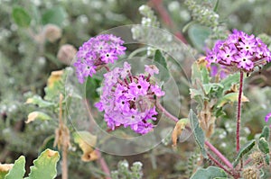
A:
{"type": "MultiPolygon", "coordinates": [[[[191,95],[198,103],[198,115],[191,109],[188,114],[189,120],[179,120],[167,112],[159,102],[159,98],[166,94],[155,82],[154,74],[159,73],[157,67],[145,66],[145,74],[139,75],[132,75],[131,66],[127,62],[124,63],[124,67],[115,67],[112,70],[107,67],[108,62],[114,63],[118,55],[118,48],[110,47],[115,46],[115,41],[112,39],[120,41],[112,34],[90,39],[89,42],[101,40],[107,48],[98,48],[99,46],[95,44],[89,44],[88,48],[81,48],[84,49],[83,56],[79,53],[78,60],[74,64],[78,74],[83,74],[83,77],[93,76],[92,69],[101,69],[101,67],[106,69],[100,102],[96,103],[96,107],[99,111],[105,112],[104,120],[109,129],[117,130],[120,126],[130,127],[131,130],[144,135],[152,132],[155,116],[161,112],[168,119],[176,122],[173,144],[176,145],[182,130],[188,128],[192,130],[202,157],[210,159],[215,165],[207,169],[198,169],[192,175],[192,179],[201,178],[202,175],[245,179],[263,176],[263,170],[260,169],[270,165],[269,128],[265,127],[258,139],[249,140],[242,147],[240,145],[241,103],[248,102],[243,94],[244,74],[247,73],[249,76],[256,67],[265,66],[271,59],[271,52],[262,40],[243,31],[234,30],[227,40],[218,40],[215,47],[208,51],[206,58],[196,61],[192,66],[191,95]],[[111,54],[108,53],[108,49],[111,54]],[[94,55],[91,55],[88,50],[94,52],[94,55]],[[104,54],[107,54],[106,57],[104,54]],[[85,66],[85,63],[89,64],[85,66]],[[214,65],[216,68],[211,68],[214,65]],[[235,75],[236,72],[239,72],[239,77],[235,75]],[[212,79],[216,79],[217,82],[212,83],[212,79]],[[213,100],[213,98],[220,100],[213,100]],[[238,108],[235,135],[237,156],[233,157],[234,161],[231,163],[228,157],[210,143],[210,136],[215,130],[215,121],[223,115],[222,107],[232,102],[237,102],[238,108]],[[249,157],[245,159],[248,154],[249,157]]],[[[96,44],[99,43],[96,41],[96,44]]],[[[121,53],[123,54],[124,51],[121,50],[121,53]]],[[[164,64],[166,65],[165,61],[164,64]]],[[[80,75],[78,78],[79,82],[83,82],[80,75]]],[[[270,115],[266,115],[266,121],[270,115]]]]}

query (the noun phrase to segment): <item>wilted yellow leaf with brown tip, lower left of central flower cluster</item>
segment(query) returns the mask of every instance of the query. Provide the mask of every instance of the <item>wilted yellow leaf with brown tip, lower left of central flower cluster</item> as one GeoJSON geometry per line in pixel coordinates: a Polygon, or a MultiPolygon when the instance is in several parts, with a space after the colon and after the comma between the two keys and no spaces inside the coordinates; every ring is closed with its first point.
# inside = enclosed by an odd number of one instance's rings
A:
{"type": "Polygon", "coordinates": [[[83,151],[82,161],[89,162],[98,158],[98,154],[93,148],[96,145],[97,136],[90,134],[89,131],[78,131],[73,133],[73,139],[83,151]]]}

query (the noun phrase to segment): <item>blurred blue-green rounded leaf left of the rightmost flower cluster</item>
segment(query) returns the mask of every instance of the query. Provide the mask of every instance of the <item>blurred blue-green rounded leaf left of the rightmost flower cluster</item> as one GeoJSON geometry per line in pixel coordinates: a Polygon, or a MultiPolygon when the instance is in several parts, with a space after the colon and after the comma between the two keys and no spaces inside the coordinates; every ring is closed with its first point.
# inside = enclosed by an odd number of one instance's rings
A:
{"type": "Polygon", "coordinates": [[[210,32],[210,28],[199,24],[193,24],[188,30],[188,36],[196,49],[205,51],[205,40],[210,36],[210,32]]]}

